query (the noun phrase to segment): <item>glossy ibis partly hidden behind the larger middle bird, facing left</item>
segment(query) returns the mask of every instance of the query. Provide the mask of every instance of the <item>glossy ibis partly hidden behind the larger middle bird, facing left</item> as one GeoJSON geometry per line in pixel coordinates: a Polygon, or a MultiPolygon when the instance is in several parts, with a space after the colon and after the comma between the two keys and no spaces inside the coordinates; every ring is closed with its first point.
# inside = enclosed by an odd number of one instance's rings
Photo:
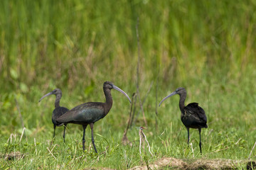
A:
{"type": "MultiPolygon", "coordinates": [[[[42,98],[40,98],[39,102],[43,98],[45,98],[46,96],[50,96],[51,94],[54,94],[56,96],[56,99],[55,99],[55,109],[53,110],[53,115],[52,115],[52,122],[53,122],[53,128],[54,128],[53,140],[54,140],[56,126],[63,125],[63,123],[57,123],[56,120],[57,120],[57,118],[60,117],[60,115],[63,115],[64,113],[66,113],[68,111],[68,108],[60,107],[60,98],[62,96],[62,92],[61,92],[60,89],[54,89],[50,93],[48,93],[45,96],[43,96],[42,98]]],[[[63,141],[64,142],[65,142],[65,128],[66,128],[66,125],[67,124],[64,124],[64,132],[63,132],[63,141]]]]}

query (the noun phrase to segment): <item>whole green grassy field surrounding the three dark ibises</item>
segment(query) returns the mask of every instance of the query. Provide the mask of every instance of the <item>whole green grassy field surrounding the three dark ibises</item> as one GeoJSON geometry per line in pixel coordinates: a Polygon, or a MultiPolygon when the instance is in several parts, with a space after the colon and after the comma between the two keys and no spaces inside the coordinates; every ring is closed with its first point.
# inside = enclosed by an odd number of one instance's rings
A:
{"type": "Polygon", "coordinates": [[[256,140],[255,11],[246,0],[0,1],[0,169],[130,169],[164,157],[245,161],[256,140]],[[68,125],[65,143],[57,128],[50,145],[55,97],[38,103],[41,96],[58,87],[67,108],[105,101],[104,81],[130,98],[138,81],[153,156],[146,145],[139,154],[136,127],[146,126],[139,98],[127,133],[132,147],[122,145],[131,105],[114,90],[110,113],[95,123],[100,154],[90,128],[82,151],[81,125],[68,125]],[[186,145],[178,95],[158,107],[179,86],[186,104],[206,111],[202,155],[198,130],[186,145]]]}

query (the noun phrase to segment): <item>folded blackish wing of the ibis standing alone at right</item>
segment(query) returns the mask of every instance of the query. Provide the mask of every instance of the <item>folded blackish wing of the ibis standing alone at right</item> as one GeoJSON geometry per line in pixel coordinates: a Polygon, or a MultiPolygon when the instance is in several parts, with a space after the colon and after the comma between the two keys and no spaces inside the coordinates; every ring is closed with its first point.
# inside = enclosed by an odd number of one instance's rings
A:
{"type": "Polygon", "coordinates": [[[198,103],[189,103],[188,106],[184,108],[184,111],[190,115],[193,115],[201,123],[207,123],[206,113],[203,108],[198,106],[198,103]]]}

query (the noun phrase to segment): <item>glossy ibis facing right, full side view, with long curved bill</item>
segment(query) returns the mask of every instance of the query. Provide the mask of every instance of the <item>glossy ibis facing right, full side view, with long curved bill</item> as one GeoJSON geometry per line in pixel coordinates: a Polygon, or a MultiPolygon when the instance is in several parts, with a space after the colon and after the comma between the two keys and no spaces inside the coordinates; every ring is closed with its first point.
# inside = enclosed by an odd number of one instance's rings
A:
{"type": "Polygon", "coordinates": [[[87,128],[87,125],[90,125],[91,128],[91,135],[92,135],[92,145],[95,149],[95,152],[97,153],[97,149],[95,147],[95,141],[93,138],[93,125],[97,120],[100,120],[109,113],[111,107],[112,107],[112,96],[111,96],[111,89],[116,89],[117,91],[120,91],[122,94],[127,96],[130,103],[131,100],[129,96],[122,91],[122,89],[119,89],[117,86],[114,86],[112,82],[105,81],[103,84],[103,91],[106,97],[105,103],[100,102],[88,102],[83,103],[79,106],[76,106],[75,108],[72,108],[70,111],[65,113],[64,115],[60,116],[60,118],[57,119],[58,123],[75,123],[82,125],[83,128],[83,135],[82,135],[82,149],[85,150],[85,129],[87,128]]]}

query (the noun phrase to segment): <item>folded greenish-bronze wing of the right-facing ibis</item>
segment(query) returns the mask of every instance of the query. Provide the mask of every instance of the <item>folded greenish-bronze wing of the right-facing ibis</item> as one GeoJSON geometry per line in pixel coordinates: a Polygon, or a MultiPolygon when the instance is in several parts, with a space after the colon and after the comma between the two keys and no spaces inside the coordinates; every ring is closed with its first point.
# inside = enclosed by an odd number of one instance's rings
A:
{"type": "Polygon", "coordinates": [[[104,118],[104,107],[101,103],[83,103],[61,115],[58,123],[94,123],[104,118]]]}

